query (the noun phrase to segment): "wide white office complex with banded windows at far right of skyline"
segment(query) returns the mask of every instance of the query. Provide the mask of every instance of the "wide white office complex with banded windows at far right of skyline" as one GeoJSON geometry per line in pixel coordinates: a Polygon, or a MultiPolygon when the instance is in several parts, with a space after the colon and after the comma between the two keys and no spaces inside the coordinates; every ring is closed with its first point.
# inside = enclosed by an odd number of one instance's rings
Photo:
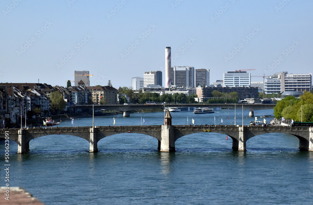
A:
{"type": "Polygon", "coordinates": [[[285,91],[310,91],[312,87],[312,73],[288,74],[288,72],[274,73],[264,79],[264,93],[283,93],[285,91]]]}

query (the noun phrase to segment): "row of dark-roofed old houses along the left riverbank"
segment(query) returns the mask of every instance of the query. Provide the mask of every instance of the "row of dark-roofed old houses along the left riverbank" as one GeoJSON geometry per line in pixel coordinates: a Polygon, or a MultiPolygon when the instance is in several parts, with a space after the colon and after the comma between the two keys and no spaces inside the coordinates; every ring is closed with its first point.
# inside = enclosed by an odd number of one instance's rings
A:
{"type": "MultiPolygon", "coordinates": [[[[25,112],[39,108],[41,117],[50,114],[50,95],[59,92],[66,102],[65,112],[73,113],[76,104],[116,104],[117,90],[110,86],[85,87],[81,82],[80,86],[64,88],[62,86],[48,85],[46,83],[0,83],[0,128],[5,123],[19,124],[21,113],[24,118],[25,112]],[[101,101],[101,99],[103,100],[101,101]]],[[[80,110],[76,110],[80,111],[80,110]]],[[[33,117],[35,117],[34,112],[33,117]]]]}

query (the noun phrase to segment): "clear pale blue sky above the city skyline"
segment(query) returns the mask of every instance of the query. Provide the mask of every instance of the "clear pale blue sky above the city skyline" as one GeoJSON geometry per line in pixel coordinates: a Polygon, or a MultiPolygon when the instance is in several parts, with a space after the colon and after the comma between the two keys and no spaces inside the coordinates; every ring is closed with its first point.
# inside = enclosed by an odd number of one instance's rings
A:
{"type": "Polygon", "coordinates": [[[210,83],[239,69],[310,73],[312,8],[309,0],[2,0],[0,82],[64,86],[74,70],[89,70],[91,85],[118,88],[161,70],[164,85],[167,46],[172,66],[210,69],[210,83]]]}

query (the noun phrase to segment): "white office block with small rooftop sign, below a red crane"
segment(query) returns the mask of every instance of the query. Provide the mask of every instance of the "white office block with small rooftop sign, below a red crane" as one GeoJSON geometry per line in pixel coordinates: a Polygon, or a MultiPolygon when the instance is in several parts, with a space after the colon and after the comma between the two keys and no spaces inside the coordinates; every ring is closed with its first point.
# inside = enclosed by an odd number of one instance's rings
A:
{"type": "Polygon", "coordinates": [[[247,87],[250,86],[251,73],[247,71],[228,71],[223,73],[223,87],[247,87]]]}

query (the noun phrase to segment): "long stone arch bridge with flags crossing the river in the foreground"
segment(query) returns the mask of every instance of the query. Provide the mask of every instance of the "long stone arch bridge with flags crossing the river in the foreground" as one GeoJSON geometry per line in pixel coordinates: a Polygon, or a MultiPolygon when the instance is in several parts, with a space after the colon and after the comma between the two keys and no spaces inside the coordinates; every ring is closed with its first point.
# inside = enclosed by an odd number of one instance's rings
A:
{"type": "Polygon", "coordinates": [[[300,150],[313,151],[313,128],[284,126],[194,126],[155,125],[155,126],[106,126],[106,127],[60,127],[60,128],[27,128],[8,129],[0,131],[0,138],[9,138],[18,143],[18,153],[29,152],[29,142],[38,137],[65,134],[86,139],[90,146],[89,152],[97,152],[100,139],[119,133],[140,133],[152,136],[158,140],[158,150],[175,152],[175,141],[192,133],[221,133],[233,140],[233,150],[246,151],[248,139],[265,133],[286,133],[299,139],[300,150]]]}

